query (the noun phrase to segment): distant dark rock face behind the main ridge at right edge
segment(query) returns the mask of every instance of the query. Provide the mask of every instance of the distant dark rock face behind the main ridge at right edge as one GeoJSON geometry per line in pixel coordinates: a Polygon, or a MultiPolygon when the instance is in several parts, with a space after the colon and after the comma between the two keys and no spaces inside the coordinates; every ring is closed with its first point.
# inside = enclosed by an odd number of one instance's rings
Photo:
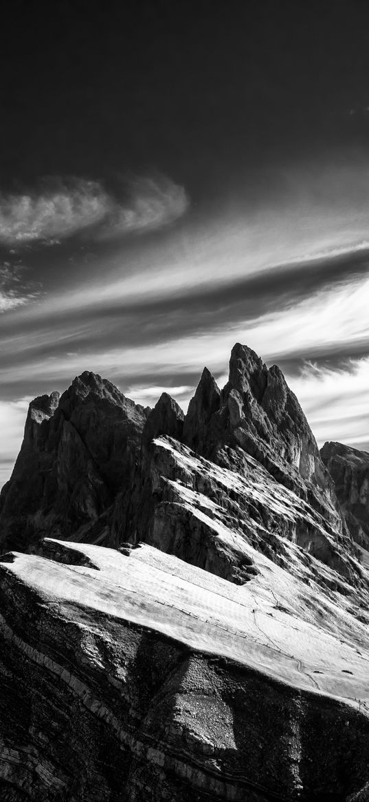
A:
{"type": "Polygon", "coordinates": [[[342,443],[325,443],[320,454],[335,483],[351,536],[369,549],[369,454],[342,443]]]}

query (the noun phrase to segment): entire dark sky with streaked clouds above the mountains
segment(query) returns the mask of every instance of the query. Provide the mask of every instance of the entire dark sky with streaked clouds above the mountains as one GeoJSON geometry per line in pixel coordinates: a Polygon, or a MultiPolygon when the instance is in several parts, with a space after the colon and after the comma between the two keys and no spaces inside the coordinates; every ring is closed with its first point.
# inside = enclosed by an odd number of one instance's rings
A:
{"type": "Polygon", "coordinates": [[[4,2],[0,485],[84,370],[186,409],[243,342],[369,448],[365,2],[4,2]]]}

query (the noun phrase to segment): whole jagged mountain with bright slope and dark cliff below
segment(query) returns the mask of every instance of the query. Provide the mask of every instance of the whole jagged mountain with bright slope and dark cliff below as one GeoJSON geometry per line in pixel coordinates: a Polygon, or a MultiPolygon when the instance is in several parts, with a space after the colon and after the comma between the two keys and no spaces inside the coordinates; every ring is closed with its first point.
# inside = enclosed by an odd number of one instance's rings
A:
{"type": "Polygon", "coordinates": [[[2,799],[369,799],[369,554],[328,468],[239,344],[187,415],[90,373],[30,404],[1,495],[2,799]]]}

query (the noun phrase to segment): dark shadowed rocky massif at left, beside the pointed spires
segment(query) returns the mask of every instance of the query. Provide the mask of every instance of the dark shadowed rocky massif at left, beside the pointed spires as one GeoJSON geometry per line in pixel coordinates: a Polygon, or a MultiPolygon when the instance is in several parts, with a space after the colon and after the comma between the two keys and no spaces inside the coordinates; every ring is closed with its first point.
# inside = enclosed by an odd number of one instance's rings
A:
{"type": "Polygon", "coordinates": [[[0,542],[24,549],[42,533],[91,524],[130,483],[146,412],[85,372],[59,398],[30,403],[21,451],[0,496],[0,542]]]}

